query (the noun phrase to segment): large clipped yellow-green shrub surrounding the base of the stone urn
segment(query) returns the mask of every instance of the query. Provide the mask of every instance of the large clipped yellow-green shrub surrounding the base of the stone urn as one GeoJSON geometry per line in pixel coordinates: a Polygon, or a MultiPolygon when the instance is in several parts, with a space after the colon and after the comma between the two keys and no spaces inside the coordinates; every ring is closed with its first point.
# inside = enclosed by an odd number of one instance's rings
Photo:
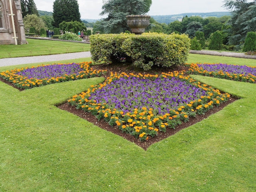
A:
{"type": "Polygon", "coordinates": [[[92,60],[116,62],[125,58],[149,70],[153,65],[172,67],[185,63],[190,40],[182,34],[143,33],[101,34],[90,36],[92,60]]]}

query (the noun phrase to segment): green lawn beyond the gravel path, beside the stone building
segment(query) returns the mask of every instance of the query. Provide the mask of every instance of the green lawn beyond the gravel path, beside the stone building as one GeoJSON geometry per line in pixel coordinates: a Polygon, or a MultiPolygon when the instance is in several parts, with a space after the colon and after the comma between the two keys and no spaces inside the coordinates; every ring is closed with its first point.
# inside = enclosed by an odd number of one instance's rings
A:
{"type": "Polygon", "coordinates": [[[0,58],[25,57],[88,51],[90,44],[26,39],[24,45],[0,45],[0,58]]]}

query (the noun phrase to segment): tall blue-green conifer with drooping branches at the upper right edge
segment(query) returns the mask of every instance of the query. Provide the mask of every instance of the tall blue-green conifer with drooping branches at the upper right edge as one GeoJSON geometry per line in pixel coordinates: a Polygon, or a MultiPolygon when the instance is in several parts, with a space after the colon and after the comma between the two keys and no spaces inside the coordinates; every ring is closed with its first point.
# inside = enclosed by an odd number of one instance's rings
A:
{"type": "Polygon", "coordinates": [[[247,0],[224,0],[228,10],[231,10],[231,18],[227,25],[231,28],[228,43],[240,46],[246,37],[247,32],[256,31],[256,0],[247,2],[247,0]]]}

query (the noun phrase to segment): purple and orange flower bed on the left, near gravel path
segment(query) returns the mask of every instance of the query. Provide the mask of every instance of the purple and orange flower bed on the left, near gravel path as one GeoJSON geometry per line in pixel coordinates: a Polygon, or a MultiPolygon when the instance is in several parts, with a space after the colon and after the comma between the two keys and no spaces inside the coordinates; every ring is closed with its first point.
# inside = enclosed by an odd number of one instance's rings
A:
{"type": "Polygon", "coordinates": [[[28,89],[57,82],[101,76],[104,71],[90,68],[91,62],[52,64],[14,69],[0,73],[0,77],[18,88],[28,89]]]}

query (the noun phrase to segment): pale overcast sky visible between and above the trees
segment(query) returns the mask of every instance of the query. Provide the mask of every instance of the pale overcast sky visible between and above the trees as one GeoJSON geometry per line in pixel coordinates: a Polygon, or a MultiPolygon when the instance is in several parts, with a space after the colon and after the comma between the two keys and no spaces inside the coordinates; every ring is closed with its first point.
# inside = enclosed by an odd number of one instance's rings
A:
{"type": "MultiPolygon", "coordinates": [[[[54,0],[34,0],[38,10],[52,12],[54,0]]],[[[252,2],[252,0],[248,0],[252,2]]],[[[82,19],[100,19],[103,0],[78,0],[82,19]]],[[[149,15],[227,11],[223,0],[152,0],[149,15]]]]}

